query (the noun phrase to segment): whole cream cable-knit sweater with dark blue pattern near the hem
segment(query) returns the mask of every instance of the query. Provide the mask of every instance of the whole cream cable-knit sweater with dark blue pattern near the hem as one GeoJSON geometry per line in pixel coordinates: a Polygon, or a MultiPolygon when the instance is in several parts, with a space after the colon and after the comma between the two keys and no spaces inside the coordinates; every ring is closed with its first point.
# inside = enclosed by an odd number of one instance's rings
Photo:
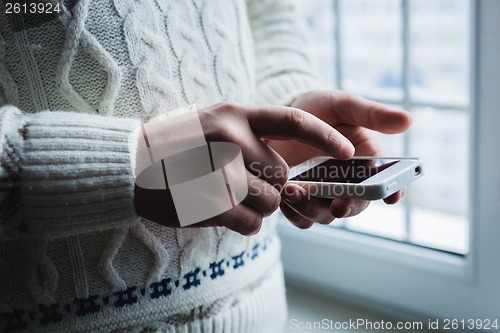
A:
{"type": "Polygon", "coordinates": [[[317,87],[295,6],[62,9],[0,14],[0,331],[279,332],[274,222],[244,237],[140,219],[128,138],[186,105],[284,105],[317,87]]]}

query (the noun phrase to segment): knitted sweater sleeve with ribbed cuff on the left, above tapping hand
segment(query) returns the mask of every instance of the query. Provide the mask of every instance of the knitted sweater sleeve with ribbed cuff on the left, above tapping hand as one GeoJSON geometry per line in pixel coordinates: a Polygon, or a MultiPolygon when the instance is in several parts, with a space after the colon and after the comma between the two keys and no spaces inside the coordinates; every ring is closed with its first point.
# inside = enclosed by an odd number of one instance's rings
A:
{"type": "Polygon", "coordinates": [[[138,222],[129,137],[139,125],[0,107],[0,239],[50,239],[138,222]]]}

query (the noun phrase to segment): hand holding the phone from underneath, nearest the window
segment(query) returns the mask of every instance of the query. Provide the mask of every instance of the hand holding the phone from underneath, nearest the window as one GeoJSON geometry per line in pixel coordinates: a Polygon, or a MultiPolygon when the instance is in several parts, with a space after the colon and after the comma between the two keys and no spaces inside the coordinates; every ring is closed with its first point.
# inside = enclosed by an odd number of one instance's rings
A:
{"type": "MultiPolygon", "coordinates": [[[[406,111],[392,109],[346,92],[307,92],[299,95],[291,106],[311,113],[342,133],[354,145],[357,156],[383,155],[383,150],[371,137],[369,129],[384,134],[397,134],[406,131],[412,124],[411,116],[406,111]]],[[[324,152],[297,141],[268,140],[268,144],[290,166],[325,155],[324,152]]],[[[398,191],[384,201],[395,204],[402,195],[402,191],[398,191]]],[[[283,188],[282,198],[282,213],[294,225],[303,229],[311,227],[314,222],[328,224],[336,217],[355,216],[369,205],[369,201],[314,198],[307,193],[306,188],[290,183],[283,188]]]]}

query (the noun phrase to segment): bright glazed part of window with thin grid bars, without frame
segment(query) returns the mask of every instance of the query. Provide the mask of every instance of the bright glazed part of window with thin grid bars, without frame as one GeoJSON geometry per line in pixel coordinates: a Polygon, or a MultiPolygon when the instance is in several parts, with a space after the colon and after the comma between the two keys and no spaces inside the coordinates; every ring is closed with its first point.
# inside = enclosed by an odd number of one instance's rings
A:
{"type": "Polygon", "coordinates": [[[418,156],[427,166],[401,204],[377,202],[333,226],[467,253],[469,191],[456,180],[469,172],[469,7],[468,0],[307,2],[324,79],[411,111],[409,133],[375,135],[388,155],[418,156]]]}

